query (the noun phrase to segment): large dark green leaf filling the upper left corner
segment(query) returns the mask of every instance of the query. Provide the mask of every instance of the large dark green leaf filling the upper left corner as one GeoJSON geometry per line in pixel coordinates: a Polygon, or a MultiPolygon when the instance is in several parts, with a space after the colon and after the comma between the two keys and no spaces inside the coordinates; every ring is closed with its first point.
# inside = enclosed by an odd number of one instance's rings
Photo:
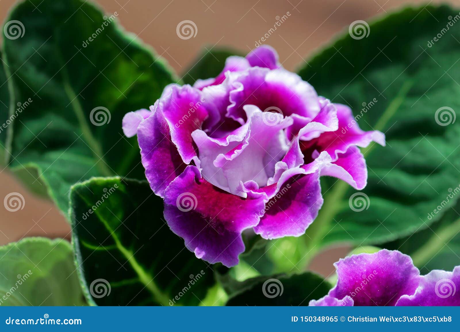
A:
{"type": "Polygon", "coordinates": [[[82,0],[30,0],[6,19],[6,31],[16,24],[23,32],[3,38],[11,105],[30,98],[13,124],[10,166],[25,169],[30,184],[48,187],[64,212],[76,182],[144,178],[137,140],[123,136],[121,119],[148,108],[177,80],[137,36],[118,27],[116,16],[103,17],[82,0]]]}

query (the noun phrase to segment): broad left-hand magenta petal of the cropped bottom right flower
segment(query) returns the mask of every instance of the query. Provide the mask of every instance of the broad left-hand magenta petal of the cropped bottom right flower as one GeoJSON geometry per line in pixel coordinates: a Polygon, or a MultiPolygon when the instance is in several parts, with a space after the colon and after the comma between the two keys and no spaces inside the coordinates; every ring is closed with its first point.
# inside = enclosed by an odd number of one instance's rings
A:
{"type": "Polygon", "coordinates": [[[338,281],[329,295],[351,296],[355,306],[393,306],[401,296],[414,294],[420,281],[412,259],[396,250],[361,253],[334,265],[338,281]]]}

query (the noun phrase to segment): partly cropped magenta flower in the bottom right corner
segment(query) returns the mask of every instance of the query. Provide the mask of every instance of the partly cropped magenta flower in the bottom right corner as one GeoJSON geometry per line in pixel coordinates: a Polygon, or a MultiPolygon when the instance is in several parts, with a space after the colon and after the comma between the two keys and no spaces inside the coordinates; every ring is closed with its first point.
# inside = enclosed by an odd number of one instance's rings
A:
{"type": "Polygon", "coordinates": [[[386,249],[340,259],[334,266],[337,285],[311,306],[460,305],[460,266],[420,276],[408,255],[386,249]]]}

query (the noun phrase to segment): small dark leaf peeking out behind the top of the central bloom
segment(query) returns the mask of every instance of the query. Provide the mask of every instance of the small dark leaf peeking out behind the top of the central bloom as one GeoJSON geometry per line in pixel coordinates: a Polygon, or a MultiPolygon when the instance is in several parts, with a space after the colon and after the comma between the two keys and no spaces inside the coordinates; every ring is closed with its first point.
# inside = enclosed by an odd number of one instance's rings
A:
{"type": "Polygon", "coordinates": [[[184,83],[193,85],[197,79],[216,77],[224,69],[225,60],[234,55],[241,56],[241,53],[227,48],[205,48],[184,73],[184,83]]]}

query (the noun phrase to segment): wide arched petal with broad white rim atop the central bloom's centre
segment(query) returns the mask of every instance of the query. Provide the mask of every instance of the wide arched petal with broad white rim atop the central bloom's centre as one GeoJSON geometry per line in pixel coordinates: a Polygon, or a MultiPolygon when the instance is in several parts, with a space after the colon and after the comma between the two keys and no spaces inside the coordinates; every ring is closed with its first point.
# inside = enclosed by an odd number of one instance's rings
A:
{"type": "Polygon", "coordinates": [[[244,105],[306,118],[314,118],[320,111],[315,89],[299,75],[287,70],[254,67],[241,73],[230,73],[228,79],[234,90],[230,91],[231,105],[227,116],[240,124],[246,122],[244,105]]]}

